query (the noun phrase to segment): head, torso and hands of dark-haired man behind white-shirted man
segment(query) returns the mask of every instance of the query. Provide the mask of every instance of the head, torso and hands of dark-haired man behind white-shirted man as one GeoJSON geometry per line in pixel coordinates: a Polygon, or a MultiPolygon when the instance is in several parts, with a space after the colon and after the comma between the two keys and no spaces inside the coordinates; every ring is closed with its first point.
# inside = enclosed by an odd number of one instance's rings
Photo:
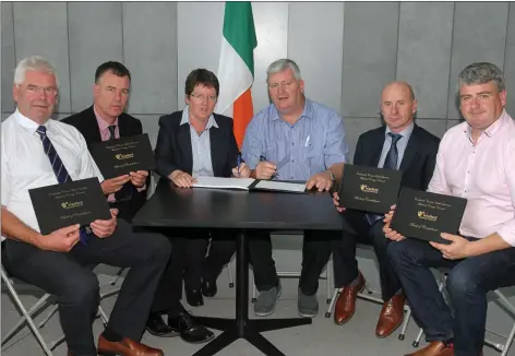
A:
{"type": "MultiPolygon", "coordinates": [[[[88,150],[96,142],[142,134],[141,121],[124,114],[129,100],[131,73],[119,62],[106,62],[95,72],[94,104],[87,109],[62,120],[75,127],[84,137],[88,150]]],[[[103,183],[110,194],[111,207],[119,210],[118,217],[129,223],[146,201],[149,185],[148,171],[134,171],[103,183]]]]}

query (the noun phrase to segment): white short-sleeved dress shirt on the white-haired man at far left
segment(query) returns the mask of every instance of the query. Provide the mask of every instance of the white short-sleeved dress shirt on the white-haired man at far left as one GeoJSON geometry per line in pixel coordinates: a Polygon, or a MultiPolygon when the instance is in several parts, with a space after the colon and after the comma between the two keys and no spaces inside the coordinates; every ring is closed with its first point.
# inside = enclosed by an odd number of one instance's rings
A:
{"type": "MultiPolygon", "coordinates": [[[[38,127],[16,109],[2,122],[0,140],[2,205],[37,232],[39,225],[28,190],[58,183],[36,132],[38,127]]],[[[74,127],[56,120],[48,120],[45,127],[47,137],[73,180],[97,177],[100,182],[104,181],[86,141],[74,127]]]]}

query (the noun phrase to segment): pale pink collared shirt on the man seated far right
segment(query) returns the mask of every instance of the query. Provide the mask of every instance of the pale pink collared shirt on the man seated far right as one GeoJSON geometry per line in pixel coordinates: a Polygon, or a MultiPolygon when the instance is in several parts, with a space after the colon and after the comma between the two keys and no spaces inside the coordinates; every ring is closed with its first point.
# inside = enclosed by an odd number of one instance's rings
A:
{"type": "Polygon", "coordinates": [[[503,110],[476,144],[470,133],[462,122],[444,134],[428,191],[467,199],[462,235],[515,247],[515,121],[503,110]]]}

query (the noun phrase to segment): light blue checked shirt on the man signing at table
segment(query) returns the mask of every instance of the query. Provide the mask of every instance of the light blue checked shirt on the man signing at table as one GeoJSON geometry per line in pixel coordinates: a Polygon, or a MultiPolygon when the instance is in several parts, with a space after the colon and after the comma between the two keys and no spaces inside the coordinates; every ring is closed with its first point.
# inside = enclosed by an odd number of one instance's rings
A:
{"type": "Polygon", "coordinates": [[[345,163],[348,153],[344,121],[338,114],[306,99],[295,124],[283,120],[270,105],[254,116],[243,139],[242,156],[251,169],[260,156],[277,166],[278,180],[307,180],[334,164],[345,163]]]}

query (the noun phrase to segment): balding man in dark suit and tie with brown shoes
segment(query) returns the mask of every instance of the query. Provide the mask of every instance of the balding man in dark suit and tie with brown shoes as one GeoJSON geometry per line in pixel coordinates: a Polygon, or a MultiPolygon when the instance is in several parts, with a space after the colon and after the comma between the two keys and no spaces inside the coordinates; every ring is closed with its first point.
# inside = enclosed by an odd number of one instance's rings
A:
{"type": "MultiPolygon", "coordinates": [[[[414,122],[417,100],[411,86],[405,82],[387,84],[381,93],[381,114],[386,127],[370,130],[358,139],[355,165],[403,170],[402,187],[426,190],[433,175],[440,140],[414,122]]],[[[344,168],[345,169],[345,168],[344,168]]],[[[358,270],[356,239],[371,242],[378,257],[383,309],[375,335],[386,337],[404,319],[405,296],[400,283],[386,256],[388,239],[384,237],[383,215],[367,214],[334,204],[342,218],[356,230],[357,236],[344,233],[333,252],[335,285],[343,287],[336,301],[334,320],[344,324],[356,310],[356,297],[364,287],[364,277],[358,270]]]]}

